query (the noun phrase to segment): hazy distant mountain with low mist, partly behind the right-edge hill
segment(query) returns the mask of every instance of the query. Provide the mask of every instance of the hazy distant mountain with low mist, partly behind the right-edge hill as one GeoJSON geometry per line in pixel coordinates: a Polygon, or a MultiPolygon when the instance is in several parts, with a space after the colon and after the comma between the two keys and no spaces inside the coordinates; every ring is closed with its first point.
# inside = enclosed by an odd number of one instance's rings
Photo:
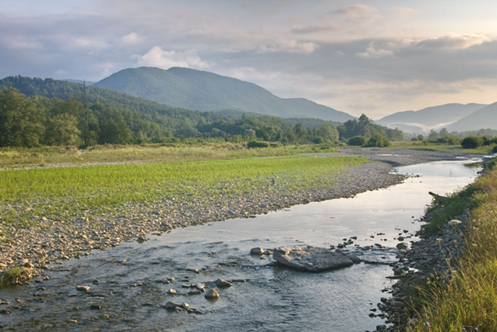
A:
{"type": "Polygon", "coordinates": [[[376,123],[398,127],[406,132],[429,132],[430,129],[449,127],[451,123],[484,108],[485,104],[445,104],[419,111],[402,111],[385,116],[376,123]]]}

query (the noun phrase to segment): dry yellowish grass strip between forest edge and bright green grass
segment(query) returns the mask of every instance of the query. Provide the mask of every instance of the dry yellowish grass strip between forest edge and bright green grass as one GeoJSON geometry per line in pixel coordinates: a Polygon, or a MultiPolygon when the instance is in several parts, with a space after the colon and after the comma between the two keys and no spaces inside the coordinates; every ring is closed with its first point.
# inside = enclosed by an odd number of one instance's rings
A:
{"type": "Polygon", "coordinates": [[[336,152],[328,145],[280,145],[248,149],[243,144],[205,142],[202,145],[144,144],[97,145],[85,150],[75,147],[1,148],[0,167],[83,164],[101,162],[167,162],[179,160],[243,159],[285,156],[309,152],[336,152]]]}

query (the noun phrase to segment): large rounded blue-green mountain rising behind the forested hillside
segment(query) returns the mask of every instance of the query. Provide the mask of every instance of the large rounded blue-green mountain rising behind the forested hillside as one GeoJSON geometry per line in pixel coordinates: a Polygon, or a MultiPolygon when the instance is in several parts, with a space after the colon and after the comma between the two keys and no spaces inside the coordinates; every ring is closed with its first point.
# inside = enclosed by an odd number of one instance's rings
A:
{"type": "Polygon", "coordinates": [[[283,99],[249,82],[188,68],[129,68],[93,87],[106,88],[179,108],[240,110],[280,117],[316,117],[344,122],[354,117],[303,98],[283,99]]]}

